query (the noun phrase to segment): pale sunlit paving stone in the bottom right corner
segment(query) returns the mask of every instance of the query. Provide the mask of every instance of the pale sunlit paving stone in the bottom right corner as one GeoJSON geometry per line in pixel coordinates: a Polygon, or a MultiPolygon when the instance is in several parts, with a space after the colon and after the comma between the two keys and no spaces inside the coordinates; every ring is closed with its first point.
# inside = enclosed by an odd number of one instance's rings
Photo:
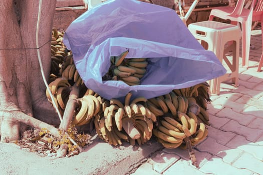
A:
{"type": "Polygon", "coordinates": [[[256,159],[250,153],[243,153],[242,156],[233,163],[233,166],[246,168],[258,174],[263,174],[263,161],[256,159]]]}

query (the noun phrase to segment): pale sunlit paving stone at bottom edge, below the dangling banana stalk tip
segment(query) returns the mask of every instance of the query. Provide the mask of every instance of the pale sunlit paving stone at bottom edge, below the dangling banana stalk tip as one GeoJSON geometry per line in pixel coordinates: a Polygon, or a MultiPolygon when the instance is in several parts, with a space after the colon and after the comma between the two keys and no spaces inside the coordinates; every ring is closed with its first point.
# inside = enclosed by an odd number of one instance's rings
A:
{"type": "Polygon", "coordinates": [[[184,159],[176,161],[171,167],[164,171],[163,175],[185,175],[185,174],[196,174],[202,175],[205,174],[199,171],[197,168],[191,165],[191,162],[184,159]]]}

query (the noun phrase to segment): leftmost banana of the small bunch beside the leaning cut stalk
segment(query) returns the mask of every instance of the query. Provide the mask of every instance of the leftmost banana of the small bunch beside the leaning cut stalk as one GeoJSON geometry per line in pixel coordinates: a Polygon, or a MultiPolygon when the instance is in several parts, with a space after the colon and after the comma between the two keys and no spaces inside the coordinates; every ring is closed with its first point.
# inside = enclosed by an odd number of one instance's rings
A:
{"type": "Polygon", "coordinates": [[[88,102],[84,99],[79,99],[78,100],[79,104],[80,104],[80,109],[77,113],[77,115],[73,118],[72,120],[72,124],[78,124],[80,122],[82,122],[83,120],[85,120],[85,118],[87,117],[87,111],[88,111],[88,102]]]}

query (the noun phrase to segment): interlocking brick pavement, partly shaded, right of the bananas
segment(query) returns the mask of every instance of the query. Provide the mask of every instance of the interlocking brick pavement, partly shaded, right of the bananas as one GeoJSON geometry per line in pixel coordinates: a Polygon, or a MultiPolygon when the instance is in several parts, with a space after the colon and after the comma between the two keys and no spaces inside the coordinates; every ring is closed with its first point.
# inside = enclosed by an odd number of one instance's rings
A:
{"type": "Polygon", "coordinates": [[[208,136],[194,146],[200,167],[191,164],[188,150],[164,148],[132,175],[263,174],[263,67],[256,71],[261,30],[252,31],[251,45],[249,67],[239,59],[239,86],[221,83],[220,94],[210,96],[208,136]]]}

